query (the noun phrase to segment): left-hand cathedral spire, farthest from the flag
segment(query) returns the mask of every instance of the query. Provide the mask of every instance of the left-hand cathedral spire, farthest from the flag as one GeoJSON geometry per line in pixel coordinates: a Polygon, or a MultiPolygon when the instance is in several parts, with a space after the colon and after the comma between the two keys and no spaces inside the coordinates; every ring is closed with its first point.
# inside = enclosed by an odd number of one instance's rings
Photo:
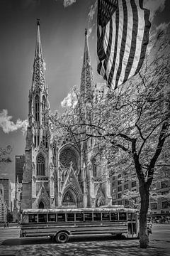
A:
{"type": "Polygon", "coordinates": [[[42,56],[42,45],[40,40],[40,20],[37,21],[37,41],[35,46],[35,58],[33,64],[33,83],[34,89],[42,89],[45,86],[45,60],[42,56]]]}

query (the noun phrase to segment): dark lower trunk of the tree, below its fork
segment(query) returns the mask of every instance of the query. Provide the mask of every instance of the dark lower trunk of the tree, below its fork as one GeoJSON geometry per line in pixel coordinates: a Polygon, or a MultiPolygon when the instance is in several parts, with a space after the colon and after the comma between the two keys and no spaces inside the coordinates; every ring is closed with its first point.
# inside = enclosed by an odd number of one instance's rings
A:
{"type": "Polygon", "coordinates": [[[147,248],[149,245],[149,237],[147,235],[147,210],[149,207],[149,188],[146,183],[140,184],[140,247],[147,248]]]}

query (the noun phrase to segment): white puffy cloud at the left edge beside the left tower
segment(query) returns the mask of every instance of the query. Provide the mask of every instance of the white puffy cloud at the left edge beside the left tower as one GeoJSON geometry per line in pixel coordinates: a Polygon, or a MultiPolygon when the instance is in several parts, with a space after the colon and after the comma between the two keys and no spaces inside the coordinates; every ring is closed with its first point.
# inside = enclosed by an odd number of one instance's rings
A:
{"type": "Polygon", "coordinates": [[[21,121],[21,119],[16,120],[16,124],[11,121],[12,117],[8,116],[8,110],[2,110],[0,112],[0,127],[3,132],[9,133],[21,129],[23,134],[26,132],[28,126],[28,120],[21,121]]]}

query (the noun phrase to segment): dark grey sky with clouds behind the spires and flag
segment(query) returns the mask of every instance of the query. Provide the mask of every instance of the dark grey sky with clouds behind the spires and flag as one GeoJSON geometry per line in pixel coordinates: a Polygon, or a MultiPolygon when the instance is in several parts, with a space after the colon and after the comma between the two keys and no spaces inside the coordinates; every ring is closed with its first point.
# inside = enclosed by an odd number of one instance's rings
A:
{"type": "MultiPolygon", "coordinates": [[[[151,11],[152,36],[168,26],[170,0],[145,0],[144,4],[151,11]]],[[[15,156],[24,154],[37,18],[50,109],[62,111],[61,102],[74,85],[80,85],[85,28],[94,82],[103,82],[96,72],[96,6],[96,0],[0,1],[0,147],[12,146],[12,163],[0,166],[1,178],[14,182],[15,156]]]]}

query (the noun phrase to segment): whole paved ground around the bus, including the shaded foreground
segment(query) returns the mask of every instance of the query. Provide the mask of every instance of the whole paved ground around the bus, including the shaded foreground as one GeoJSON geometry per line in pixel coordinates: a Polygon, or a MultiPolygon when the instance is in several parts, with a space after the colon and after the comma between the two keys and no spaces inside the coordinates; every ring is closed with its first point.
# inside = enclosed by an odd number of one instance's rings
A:
{"type": "Polygon", "coordinates": [[[51,242],[49,238],[19,238],[19,228],[0,229],[0,255],[169,255],[170,224],[155,224],[149,236],[149,247],[140,249],[139,240],[118,240],[113,235],[100,235],[90,238],[70,238],[66,244],[51,242]]]}

